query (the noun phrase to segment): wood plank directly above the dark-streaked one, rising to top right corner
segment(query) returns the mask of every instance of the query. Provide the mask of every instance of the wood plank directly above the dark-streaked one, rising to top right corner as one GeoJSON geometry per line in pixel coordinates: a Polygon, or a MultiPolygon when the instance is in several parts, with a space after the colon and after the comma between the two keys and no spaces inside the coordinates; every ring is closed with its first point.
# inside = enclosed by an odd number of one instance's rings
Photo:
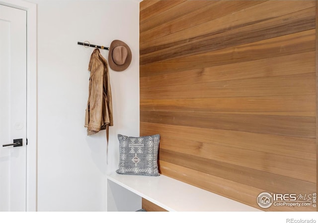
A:
{"type": "Polygon", "coordinates": [[[218,34],[242,26],[266,21],[275,17],[287,15],[299,10],[314,7],[315,1],[251,1],[254,6],[239,10],[202,24],[183,29],[179,32],[157,38],[140,39],[141,52],[151,52],[151,48],[161,50],[178,44],[200,39],[205,35],[218,34]],[[288,5],[288,7],[286,7],[288,5]]]}

